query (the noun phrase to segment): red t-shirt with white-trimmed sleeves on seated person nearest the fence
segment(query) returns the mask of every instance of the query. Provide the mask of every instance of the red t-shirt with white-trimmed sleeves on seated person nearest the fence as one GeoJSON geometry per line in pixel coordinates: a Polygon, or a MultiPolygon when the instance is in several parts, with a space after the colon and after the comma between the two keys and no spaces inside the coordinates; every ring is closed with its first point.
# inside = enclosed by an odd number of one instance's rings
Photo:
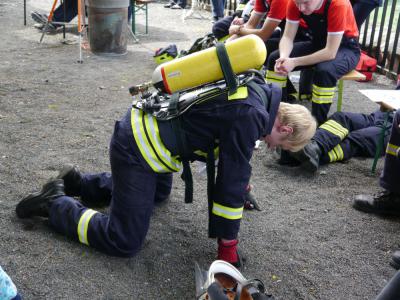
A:
{"type": "MultiPolygon", "coordinates": [[[[323,15],[326,1],[313,14],[323,15]]],[[[300,11],[294,0],[290,0],[287,6],[286,21],[298,23],[300,11]]],[[[353,8],[348,0],[332,0],[328,9],[328,34],[344,34],[348,38],[358,37],[357,23],[354,18],[353,8]]]]}

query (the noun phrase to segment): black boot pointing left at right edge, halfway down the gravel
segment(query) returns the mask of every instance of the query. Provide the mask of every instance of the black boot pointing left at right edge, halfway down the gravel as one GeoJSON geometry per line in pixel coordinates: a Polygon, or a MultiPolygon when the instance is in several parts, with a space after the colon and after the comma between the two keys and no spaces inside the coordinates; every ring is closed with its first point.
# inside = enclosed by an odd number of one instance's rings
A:
{"type": "Polygon", "coordinates": [[[357,195],[353,207],[367,213],[400,216],[400,195],[390,191],[382,191],[377,195],[357,195]]]}

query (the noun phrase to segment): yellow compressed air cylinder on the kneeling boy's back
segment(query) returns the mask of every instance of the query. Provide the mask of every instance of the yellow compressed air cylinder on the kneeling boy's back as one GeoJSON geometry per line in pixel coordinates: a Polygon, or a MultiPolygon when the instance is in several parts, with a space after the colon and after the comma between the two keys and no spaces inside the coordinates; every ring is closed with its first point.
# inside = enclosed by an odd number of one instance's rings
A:
{"type": "MultiPolygon", "coordinates": [[[[247,35],[225,44],[233,72],[258,69],[267,50],[261,38],[247,35]]],[[[184,56],[158,66],[152,76],[155,88],[169,94],[222,79],[215,47],[184,56]]]]}

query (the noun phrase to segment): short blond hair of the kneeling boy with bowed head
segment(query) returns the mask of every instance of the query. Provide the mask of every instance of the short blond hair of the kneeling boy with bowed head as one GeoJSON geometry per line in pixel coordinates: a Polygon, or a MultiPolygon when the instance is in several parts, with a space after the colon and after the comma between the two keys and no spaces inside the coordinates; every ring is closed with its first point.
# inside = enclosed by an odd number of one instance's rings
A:
{"type": "Polygon", "coordinates": [[[317,122],[310,111],[299,104],[281,102],[278,118],[282,125],[289,126],[293,133],[288,135],[286,141],[293,152],[303,149],[309,143],[317,129],[317,122]]]}

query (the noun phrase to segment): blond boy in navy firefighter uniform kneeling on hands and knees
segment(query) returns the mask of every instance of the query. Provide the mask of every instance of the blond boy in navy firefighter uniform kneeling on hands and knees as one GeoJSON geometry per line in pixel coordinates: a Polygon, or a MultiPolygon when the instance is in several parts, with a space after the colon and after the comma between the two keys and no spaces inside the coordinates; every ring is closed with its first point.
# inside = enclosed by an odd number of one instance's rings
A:
{"type": "MultiPolygon", "coordinates": [[[[259,43],[265,49],[261,40],[259,43]]],[[[226,48],[229,54],[228,45],[226,48]]],[[[242,48],[240,44],[238,48],[242,48]]],[[[250,45],[252,48],[254,45],[250,45]]],[[[204,51],[215,52],[215,48],[204,51]]],[[[261,57],[257,64],[264,59],[261,57]]],[[[168,78],[170,73],[164,69],[163,74],[168,78]]],[[[183,146],[190,150],[186,159],[204,158],[210,153],[210,145],[219,148],[210,207],[212,237],[218,240],[218,258],[238,265],[237,238],[255,142],[263,139],[271,147],[296,151],[311,139],[316,128],[306,108],[280,104],[280,90],[276,89],[278,93],[273,96],[275,88],[262,78],[252,82],[255,85],[242,86],[236,94],[222,93],[190,107],[179,117],[178,134],[171,121],[158,121],[152,114],[131,107],[115,124],[110,143],[111,173],[82,174],[76,168],[67,169],[60,173],[60,179],[49,181],[41,191],[22,199],[17,215],[48,217],[50,225],[61,234],[109,255],[133,256],[145,240],[155,202],[167,199],[172,173],[181,168],[178,149],[182,145],[178,145],[177,136],[184,135],[183,146]],[[268,99],[264,102],[262,98],[268,99]],[[75,196],[81,201],[72,198],[75,196]],[[93,208],[108,203],[109,215],[83,205],[93,208]]],[[[171,85],[166,88],[172,90],[171,85]]]]}

